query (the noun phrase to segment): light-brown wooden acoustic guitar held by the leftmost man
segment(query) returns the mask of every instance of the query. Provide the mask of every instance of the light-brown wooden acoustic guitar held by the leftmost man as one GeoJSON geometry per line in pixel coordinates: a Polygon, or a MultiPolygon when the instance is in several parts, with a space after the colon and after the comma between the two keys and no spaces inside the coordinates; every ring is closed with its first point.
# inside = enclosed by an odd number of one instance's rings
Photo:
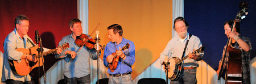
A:
{"type": "MultiPolygon", "coordinates": [[[[38,51],[36,51],[36,49],[38,49],[39,47],[38,46],[35,46],[35,47],[31,47],[31,48],[17,48],[16,51],[19,51],[19,52],[22,52],[23,54],[30,54],[30,55],[33,55],[35,57],[38,57],[39,60],[37,62],[30,62],[26,59],[21,59],[20,62],[16,61],[16,60],[9,60],[9,65],[10,65],[10,68],[11,68],[11,71],[16,74],[16,75],[27,75],[31,72],[31,70],[33,70],[34,68],[38,67],[39,66],[39,61],[40,61],[40,66],[43,65],[43,60],[42,60],[42,57],[40,57],[38,55],[38,51]]],[[[67,49],[69,48],[69,44],[68,43],[65,43],[63,45],[61,45],[60,47],[58,48],[61,48],[61,49],[67,49]]],[[[40,55],[42,56],[47,56],[48,54],[53,54],[57,52],[57,49],[51,49],[47,52],[43,52],[41,53],[40,55]]]]}

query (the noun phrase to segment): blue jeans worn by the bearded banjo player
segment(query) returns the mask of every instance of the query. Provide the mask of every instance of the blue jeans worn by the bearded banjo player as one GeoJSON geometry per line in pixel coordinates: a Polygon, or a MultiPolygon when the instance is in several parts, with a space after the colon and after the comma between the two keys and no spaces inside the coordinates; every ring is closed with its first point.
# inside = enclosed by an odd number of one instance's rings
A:
{"type": "Polygon", "coordinates": [[[171,84],[195,84],[196,81],[196,68],[181,70],[180,77],[177,81],[171,81],[171,84]]]}

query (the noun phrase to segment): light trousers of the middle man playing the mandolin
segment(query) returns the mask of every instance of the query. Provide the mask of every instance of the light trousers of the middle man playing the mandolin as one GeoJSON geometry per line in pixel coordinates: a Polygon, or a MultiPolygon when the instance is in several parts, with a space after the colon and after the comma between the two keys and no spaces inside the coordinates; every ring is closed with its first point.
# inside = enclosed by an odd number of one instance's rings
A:
{"type": "Polygon", "coordinates": [[[131,81],[131,74],[119,77],[109,76],[109,84],[133,84],[131,81]]]}

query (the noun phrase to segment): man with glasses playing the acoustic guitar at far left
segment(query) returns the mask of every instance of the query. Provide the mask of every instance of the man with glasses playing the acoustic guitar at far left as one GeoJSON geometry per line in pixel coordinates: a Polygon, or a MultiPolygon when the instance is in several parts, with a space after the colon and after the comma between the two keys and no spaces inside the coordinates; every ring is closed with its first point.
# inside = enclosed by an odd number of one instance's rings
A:
{"type": "MultiPolygon", "coordinates": [[[[31,54],[27,54],[24,52],[19,52],[16,49],[24,48],[28,49],[31,47],[35,47],[36,45],[33,43],[32,39],[28,37],[27,32],[30,26],[29,20],[25,15],[18,15],[15,18],[15,28],[14,31],[9,33],[9,35],[5,39],[4,47],[4,57],[3,57],[3,73],[2,73],[2,82],[22,84],[22,83],[32,83],[31,77],[29,74],[26,75],[17,75],[11,70],[9,65],[9,60],[16,61],[20,64],[25,62],[23,60],[37,62],[38,58],[35,56],[31,56],[31,54]]],[[[56,48],[57,53],[59,54],[62,50],[60,48],[56,48]]],[[[44,48],[45,51],[49,49],[44,48]]],[[[40,62],[42,64],[42,62],[40,62]]],[[[24,69],[25,66],[20,66],[19,68],[24,69]]],[[[20,69],[22,70],[22,69],[20,69]]],[[[18,73],[19,74],[19,73],[18,73]]]]}

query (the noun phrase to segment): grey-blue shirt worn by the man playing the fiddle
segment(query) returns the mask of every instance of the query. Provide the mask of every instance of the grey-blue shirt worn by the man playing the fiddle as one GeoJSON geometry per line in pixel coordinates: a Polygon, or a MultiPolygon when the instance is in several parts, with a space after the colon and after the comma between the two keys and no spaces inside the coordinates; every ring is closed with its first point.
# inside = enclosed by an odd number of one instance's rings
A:
{"type": "Polygon", "coordinates": [[[93,60],[97,59],[96,49],[89,49],[87,47],[82,47],[79,52],[76,52],[79,47],[75,44],[75,39],[71,35],[63,37],[59,45],[69,43],[69,48],[65,49],[60,54],[56,55],[56,58],[64,58],[64,75],[68,78],[80,78],[90,74],[90,58],[93,60]],[[75,59],[71,58],[70,54],[65,54],[65,51],[75,51],[75,59]]]}

